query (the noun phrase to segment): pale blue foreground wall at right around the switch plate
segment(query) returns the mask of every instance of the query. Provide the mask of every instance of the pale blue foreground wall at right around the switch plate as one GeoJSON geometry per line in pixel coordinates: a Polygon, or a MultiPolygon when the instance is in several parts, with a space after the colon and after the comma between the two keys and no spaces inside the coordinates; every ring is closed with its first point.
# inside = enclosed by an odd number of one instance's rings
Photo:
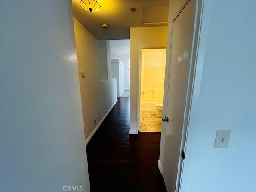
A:
{"type": "Polygon", "coordinates": [[[204,2],[182,192],[256,191],[255,15],[255,1],[204,2]]]}

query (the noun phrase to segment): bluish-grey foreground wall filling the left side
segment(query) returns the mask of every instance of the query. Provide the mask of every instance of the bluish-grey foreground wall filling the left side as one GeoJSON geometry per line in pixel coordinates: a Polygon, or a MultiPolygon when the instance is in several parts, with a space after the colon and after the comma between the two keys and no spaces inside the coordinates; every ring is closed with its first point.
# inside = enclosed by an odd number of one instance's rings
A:
{"type": "Polygon", "coordinates": [[[90,191],[68,1],[1,1],[1,191],[90,191]]]}

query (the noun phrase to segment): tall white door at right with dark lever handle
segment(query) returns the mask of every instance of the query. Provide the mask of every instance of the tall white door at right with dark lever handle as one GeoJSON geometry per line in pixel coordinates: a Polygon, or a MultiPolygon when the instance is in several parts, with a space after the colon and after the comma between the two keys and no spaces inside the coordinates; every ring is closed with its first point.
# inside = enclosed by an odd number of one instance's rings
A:
{"type": "Polygon", "coordinates": [[[186,130],[186,110],[190,104],[188,85],[191,70],[191,52],[194,34],[194,22],[198,2],[190,1],[172,22],[170,78],[166,115],[166,136],[163,161],[163,177],[168,192],[179,189],[182,137],[186,130]],[[186,101],[188,102],[186,103],[186,101]],[[183,135],[182,135],[183,132],[183,135]]]}

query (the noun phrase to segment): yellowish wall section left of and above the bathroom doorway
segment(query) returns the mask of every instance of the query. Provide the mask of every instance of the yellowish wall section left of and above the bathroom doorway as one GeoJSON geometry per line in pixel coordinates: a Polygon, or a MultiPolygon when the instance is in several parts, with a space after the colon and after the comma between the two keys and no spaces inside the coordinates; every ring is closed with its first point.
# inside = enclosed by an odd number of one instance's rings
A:
{"type": "Polygon", "coordinates": [[[166,47],[167,27],[130,28],[130,134],[138,134],[140,48],[166,47]]]}

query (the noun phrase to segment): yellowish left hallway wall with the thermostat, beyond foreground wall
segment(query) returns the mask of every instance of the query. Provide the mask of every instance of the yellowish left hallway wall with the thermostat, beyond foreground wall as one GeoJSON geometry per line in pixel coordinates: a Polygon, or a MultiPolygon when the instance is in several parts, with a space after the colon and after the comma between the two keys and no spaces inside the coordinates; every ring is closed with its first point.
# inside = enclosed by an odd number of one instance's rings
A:
{"type": "Polygon", "coordinates": [[[111,73],[110,52],[108,51],[110,48],[106,40],[98,41],[76,18],[74,18],[74,28],[84,133],[86,143],[88,143],[108,110],[117,101],[116,80],[112,80],[111,76],[108,77],[111,73]],[[104,68],[103,71],[100,70],[101,67],[104,68]],[[86,73],[85,78],[81,76],[81,72],[86,73]],[[102,78],[108,80],[101,80],[102,78]]]}

